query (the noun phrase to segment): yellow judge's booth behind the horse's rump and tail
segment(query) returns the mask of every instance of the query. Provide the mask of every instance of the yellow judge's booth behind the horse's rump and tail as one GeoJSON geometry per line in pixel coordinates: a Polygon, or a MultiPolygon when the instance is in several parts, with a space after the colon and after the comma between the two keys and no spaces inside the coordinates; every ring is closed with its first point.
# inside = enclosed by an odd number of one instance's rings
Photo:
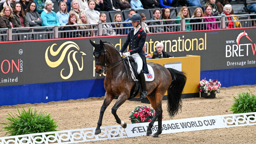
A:
{"type": "MultiPolygon", "coordinates": [[[[158,63],[163,66],[164,63],[181,62],[181,69],[187,76],[183,93],[198,93],[196,88],[200,82],[200,56],[187,55],[186,57],[177,58],[147,59],[147,62],[158,63]]],[[[167,95],[167,93],[165,95],[167,95]]]]}

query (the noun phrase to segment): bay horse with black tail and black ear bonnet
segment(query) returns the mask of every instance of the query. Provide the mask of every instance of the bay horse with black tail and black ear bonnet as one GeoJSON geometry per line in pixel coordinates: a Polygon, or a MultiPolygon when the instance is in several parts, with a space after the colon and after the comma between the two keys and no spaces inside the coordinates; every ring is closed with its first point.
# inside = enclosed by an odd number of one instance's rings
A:
{"type": "MultiPolygon", "coordinates": [[[[106,90],[105,98],[103,105],[100,108],[99,121],[95,130],[95,135],[98,135],[101,133],[100,126],[102,125],[104,111],[116,96],[118,96],[118,99],[112,107],[111,112],[114,115],[116,122],[123,128],[126,128],[127,124],[120,120],[116,112],[117,109],[130,97],[130,92],[135,81],[129,81],[131,80],[131,73],[125,72],[124,59],[120,56],[119,51],[117,51],[113,44],[102,42],[101,40],[98,44],[93,43],[91,40],[90,43],[95,48],[93,51],[96,61],[95,72],[102,74],[103,71],[107,71],[104,79],[104,88],[106,90]]],[[[181,109],[181,93],[186,83],[186,76],[182,71],[165,68],[160,64],[148,64],[153,68],[155,78],[153,81],[146,82],[147,92],[152,95],[152,97],[147,95],[147,98],[156,113],[147,128],[147,136],[152,134],[151,128],[156,118],[158,118],[158,129],[152,136],[158,137],[158,135],[162,133],[163,96],[167,91],[167,110],[169,116],[172,118],[178,113],[179,109],[181,109]]],[[[139,98],[139,93],[135,98],[139,98]]]]}

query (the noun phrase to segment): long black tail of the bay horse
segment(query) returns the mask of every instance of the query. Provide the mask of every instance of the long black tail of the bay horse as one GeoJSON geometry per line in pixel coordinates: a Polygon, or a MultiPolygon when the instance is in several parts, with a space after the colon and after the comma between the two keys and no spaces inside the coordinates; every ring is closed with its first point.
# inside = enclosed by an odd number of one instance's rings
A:
{"type": "Polygon", "coordinates": [[[181,109],[181,93],[185,86],[187,77],[185,73],[182,71],[177,71],[173,68],[167,68],[172,76],[172,83],[167,90],[167,110],[169,112],[169,116],[173,118],[181,109]]]}

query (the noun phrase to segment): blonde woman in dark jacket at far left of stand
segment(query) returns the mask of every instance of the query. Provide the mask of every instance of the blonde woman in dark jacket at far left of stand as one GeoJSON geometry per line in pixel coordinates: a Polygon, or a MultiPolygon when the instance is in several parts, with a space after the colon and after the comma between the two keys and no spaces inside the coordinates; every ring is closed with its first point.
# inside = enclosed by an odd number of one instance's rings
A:
{"type": "Polygon", "coordinates": [[[18,24],[13,18],[10,6],[5,6],[0,13],[0,28],[17,28],[18,24]]]}

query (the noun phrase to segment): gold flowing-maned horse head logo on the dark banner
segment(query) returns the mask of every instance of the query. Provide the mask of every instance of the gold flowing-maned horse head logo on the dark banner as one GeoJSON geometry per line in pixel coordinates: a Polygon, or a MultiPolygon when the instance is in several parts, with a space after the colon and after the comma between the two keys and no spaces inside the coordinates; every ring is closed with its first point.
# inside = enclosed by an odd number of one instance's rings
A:
{"type": "MultiPolygon", "coordinates": [[[[63,62],[63,60],[64,60],[64,58],[65,58],[65,55],[67,54],[67,51],[70,49],[70,48],[76,48],[78,51],[80,50],[80,48],[78,47],[78,45],[76,44],[76,43],[74,43],[73,41],[67,41],[67,42],[65,42],[65,43],[63,43],[63,44],[61,44],[60,45],[60,47],[56,50],[56,51],[53,51],[53,46],[55,46],[55,45],[57,45],[56,43],[55,44],[52,44],[51,46],[49,46],[47,49],[46,49],[46,51],[45,51],[45,61],[46,61],[46,63],[48,64],[48,66],[50,66],[51,68],[56,68],[57,66],[59,66],[62,62],[63,62]],[[61,49],[63,49],[63,51],[62,51],[62,53],[61,53],[61,56],[60,56],[60,58],[58,58],[58,60],[57,61],[51,61],[49,58],[48,58],[48,51],[49,51],[49,49],[50,49],[50,54],[51,54],[51,56],[56,56],[56,55],[58,55],[59,53],[60,53],[60,51],[61,51],[61,49]]],[[[71,76],[72,76],[72,74],[73,74],[73,65],[72,65],[72,63],[71,63],[71,61],[70,61],[70,54],[71,53],[73,53],[72,54],[72,58],[73,58],[73,60],[75,61],[75,63],[77,64],[77,67],[78,67],[78,70],[79,71],[82,71],[83,70],[83,55],[86,55],[84,52],[82,52],[82,51],[80,51],[80,53],[82,53],[82,66],[80,67],[79,66],[79,63],[78,63],[78,61],[77,61],[77,59],[76,59],[76,57],[75,57],[75,55],[78,53],[77,51],[74,51],[74,50],[71,50],[69,53],[68,53],[68,65],[69,65],[69,68],[70,68],[70,72],[69,72],[69,74],[68,74],[68,76],[63,76],[62,75],[62,71],[64,70],[64,68],[63,69],[61,69],[61,71],[60,71],[60,76],[61,76],[61,78],[63,78],[64,80],[67,80],[67,79],[69,79],[71,76]]]]}

